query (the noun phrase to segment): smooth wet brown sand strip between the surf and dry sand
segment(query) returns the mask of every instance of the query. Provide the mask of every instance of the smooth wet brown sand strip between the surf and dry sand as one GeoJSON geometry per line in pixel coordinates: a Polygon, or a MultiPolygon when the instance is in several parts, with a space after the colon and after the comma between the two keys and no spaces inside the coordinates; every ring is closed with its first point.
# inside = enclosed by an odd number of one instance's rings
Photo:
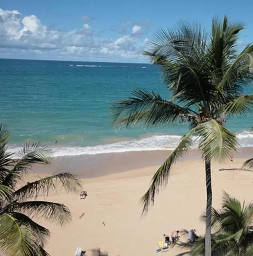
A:
{"type": "MultiPolygon", "coordinates": [[[[234,152],[235,159],[253,157],[253,147],[240,148],[239,150],[239,152],[234,152]]],[[[90,179],[150,166],[160,166],[171,152],[171,150],[156,150],[57,156],[54,157],[50,166],[36,165],[33,170],[43,174],[56,174],[68,170],[80,178],[90,179]]],[[[191,160],[201,160],[201,154],[198,150],[190,150],[179,159],[179,162],[191,160]]]]}

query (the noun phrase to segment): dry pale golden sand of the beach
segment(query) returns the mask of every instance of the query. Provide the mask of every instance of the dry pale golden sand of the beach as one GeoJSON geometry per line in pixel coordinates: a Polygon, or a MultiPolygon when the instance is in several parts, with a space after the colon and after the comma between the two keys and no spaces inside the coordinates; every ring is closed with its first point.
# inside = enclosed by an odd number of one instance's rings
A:
{"type": "MultiPolygon", "coordinates": [[[[151,165],[153,160],[150,156],[160,155],[158,153],[139,152],[144,160],[145,155],[148,159],[142,161],[142,167],[134,163],[137,161],[138,153],[132,153],[132,161],[131,154],[128,155],[128,165],[138,166],[132,170],[126,170],[127,163],[118,163],[117,157],[117,170],[113,169],[110,172],[108,166],[112,166],[113,162],[104,162],[105,173],[100,170],[98,174],[89,172],[90,176],[83,174],[87,176],[82,179],[83,188],[88,193],[85,200],[80,200],[79,195],[65,192],[51,193],[47,200],[66,204],[72,212],[73,220],[66,227],[56,227],[39,221],[51,231],[51,239],[46,250],[52,256],[74,256],[77,247],[82,247],[83,250],[100,248],[107,251],[109,256],[152,256],[156,255],[157,242],[163,240],[164,233],[170,236],[176,229],[197,228],[197,233],[203,235],[205,223],[201,223],[199,216],[206,207],[205,166],[199,157],[180,161],[172,168],[168,186],[157,196],[154,207],[141,218],[142,206],[139,200],[159,167],[151,165]],[[146,166],[147,162],[149,166],[146,166]],[[81,215],[82,218],[79,218],[81,215]]],[[[167,154],[168,152],[164,153],[164,156],[167,154]]],[[[250,154],[251,152],[248,152],[248,155],[250,154]]],[[[166,158],[164,156],[163,160],[166,158]]],[[[219,171],[219,168],[240,168],[245,159],[242,155],[235,156],[238,158],[233,162],[212,162],[214,207],[221,206],[223,190],[241,201],[253,201],[253,172],[219,171]]],[[[154,162],[160,164],[160,158],[154,162]]],[[[54,172],[76,170],[67,170],[69,166],[70,161],[66,169],[62,167],[56,170],[54,167],[54,172]]],[[[81,170],[85,166],[79,168],[81,170]]],[[[40,175],[45,175],[49,171],[40,172],[40,175]]],[[[32,181],[36,175],[30,174],[27,181],[32,181]]],[[[43,200],[43,197],[38,199],[43,200]]],[[[187,241],[187,236],[182,237],[182,240],[187,241]]],[[[181,248],[175,246],[164,254],[170,256],[182,252],[181,248]]]]}

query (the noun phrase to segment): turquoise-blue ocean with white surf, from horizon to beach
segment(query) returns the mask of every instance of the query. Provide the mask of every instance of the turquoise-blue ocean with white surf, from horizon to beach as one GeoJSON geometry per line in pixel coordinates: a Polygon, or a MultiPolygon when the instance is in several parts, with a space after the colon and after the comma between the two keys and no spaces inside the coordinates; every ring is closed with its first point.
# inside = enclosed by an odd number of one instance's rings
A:
{"type": "MultiPolygon", "coordinates": [[[[11,131],[10,151],[29,140],[52,146],[55,156],[173,149],[188,130],[112,124],[110,106],[133,88],[169,97],[156,65],[0,59],[0,77],[1,123],[11,131]]],[[[253,146],[252,126],[252,117],[229,120],[242,147],[253,146]]]]}

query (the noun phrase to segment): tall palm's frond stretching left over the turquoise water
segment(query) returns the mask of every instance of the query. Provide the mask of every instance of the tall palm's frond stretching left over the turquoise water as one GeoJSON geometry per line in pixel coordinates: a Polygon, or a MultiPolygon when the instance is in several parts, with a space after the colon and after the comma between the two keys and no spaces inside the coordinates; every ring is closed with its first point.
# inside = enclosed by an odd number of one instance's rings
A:
{"type": "Polygon", "coordinates": [[[147,127],[185,121],[192,110],[164,100],[153,91],[135,89],[133,97],[120,100],[112,106],[113,121],[128,127],[143,121],[147,127]]]}

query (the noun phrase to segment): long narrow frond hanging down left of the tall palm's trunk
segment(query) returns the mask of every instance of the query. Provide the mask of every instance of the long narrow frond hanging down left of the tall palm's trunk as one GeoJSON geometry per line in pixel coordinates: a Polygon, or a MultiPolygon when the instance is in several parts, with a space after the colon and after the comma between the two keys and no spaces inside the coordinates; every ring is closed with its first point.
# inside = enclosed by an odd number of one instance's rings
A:
{"type": "Polygon", "coordinates": [[[150,206],[154,204],[155,195],[161,191],[162,187],[166,186],[172,165],[175,164],[179,157],[193,145],[191,138],[193,133],[194,129],[181,139],[178,146],[171,152],[170,156],[154,174],[150,182],[150,187],[141,198],[141,203],[143,204],[142,214],[145,214],[149,210],[150,206]]]}

